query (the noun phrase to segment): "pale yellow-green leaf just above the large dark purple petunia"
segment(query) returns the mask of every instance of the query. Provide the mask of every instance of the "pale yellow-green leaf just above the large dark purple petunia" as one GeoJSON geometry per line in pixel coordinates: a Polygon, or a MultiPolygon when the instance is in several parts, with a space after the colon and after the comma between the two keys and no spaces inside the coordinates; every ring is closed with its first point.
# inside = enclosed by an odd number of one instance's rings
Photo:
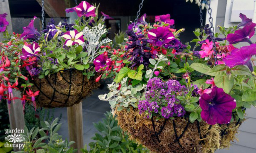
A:
{"type": "Polygon", "coordinates": [[[234,84],[234,77],[233,75],[230,78],[228,76],[215,76],[214,83],[217,87],[223,88],[224,92],[229,93],[234,84]]]}

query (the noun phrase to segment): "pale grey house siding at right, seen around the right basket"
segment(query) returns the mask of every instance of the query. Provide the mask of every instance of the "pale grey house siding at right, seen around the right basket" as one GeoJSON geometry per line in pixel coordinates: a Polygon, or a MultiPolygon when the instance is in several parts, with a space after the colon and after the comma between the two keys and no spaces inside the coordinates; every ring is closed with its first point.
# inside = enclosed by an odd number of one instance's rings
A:
{"type": "MultiPolygon", "coordinates": [[[[217,26],[224,26],[224,18],[226,12],[227,0],[218,0],[218,10],[216,17],[216,32],[219,32],[217,26]]],[[[223,36],[220,36],[223,37],[223,36]]],[[[256,41],[256,35],[252,41],[256,41]]],[[[238,46],[247,45],[239,43],[238,46]]],[[[231,142],[232,146],[229,150],[217,150],[215,153],[256,153],[256,108],[252,107],[246,110],[247,120],[239,127],[237,138],[239,141],[231,142]]]]}

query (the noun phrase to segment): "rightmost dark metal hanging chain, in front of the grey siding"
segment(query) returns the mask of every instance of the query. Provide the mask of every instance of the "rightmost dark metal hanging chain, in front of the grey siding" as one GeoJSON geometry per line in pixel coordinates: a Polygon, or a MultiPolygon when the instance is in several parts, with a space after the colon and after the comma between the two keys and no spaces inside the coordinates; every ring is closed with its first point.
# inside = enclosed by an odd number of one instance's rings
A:
{"type": "Polygon", "coordinates": [[[208,14],[209,14],[209,23],[210,23],[210,29],[212,30],[212,42],[213,42],[213,54],[214,54],[214,64],[217,65],[218,61],[217,61],[217,50],[216,50],[216,43],[215,43],[215,35],[214,35],[214,27],[213,27],[213,18],[212,18],[212,9],[211,9],[211,0],[206,1],[206,3],[208,4],[209,8],[207,10],[208,14]]]}

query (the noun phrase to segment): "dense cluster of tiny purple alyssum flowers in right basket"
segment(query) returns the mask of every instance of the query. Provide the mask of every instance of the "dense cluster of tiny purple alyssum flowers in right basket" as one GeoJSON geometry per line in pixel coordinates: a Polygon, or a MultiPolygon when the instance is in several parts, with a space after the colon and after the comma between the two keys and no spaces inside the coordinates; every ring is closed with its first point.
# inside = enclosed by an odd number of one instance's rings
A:
{"type": "Polygon", "coordinates": [[[185,90],[186,87],[181,86],[177,80],[164,82],[157,77],[150,79],[145,92],[145,100],[139,101],[138,104],[140,114],[146,112],[148,118],[152,113],[159,113],[164,118],[185,115],[184,107],[176,98],[177,94],[181,95],[185,90]]]}

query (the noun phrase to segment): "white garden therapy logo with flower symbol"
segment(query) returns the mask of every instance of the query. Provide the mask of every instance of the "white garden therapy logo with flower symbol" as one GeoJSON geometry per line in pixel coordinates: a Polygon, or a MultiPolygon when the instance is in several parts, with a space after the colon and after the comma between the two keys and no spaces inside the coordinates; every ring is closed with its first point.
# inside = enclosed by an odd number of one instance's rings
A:
{"type": "Polygon", "coordinates": [[[7,141],[4,146],[5,147],[17,147],[17,148],[23,148],[24,144],[20,143],[25,140],[23,136],[20,135],[20,133],[24,133],[24,130],[18,130],[17,128],[15,130],[9,130],[6,129],[6,136],[5,140],[7,141]],[[9,134],[11,133],[11,134],[9,134]],[[9,142],[9,143],[8,143],[9,142]]]}

